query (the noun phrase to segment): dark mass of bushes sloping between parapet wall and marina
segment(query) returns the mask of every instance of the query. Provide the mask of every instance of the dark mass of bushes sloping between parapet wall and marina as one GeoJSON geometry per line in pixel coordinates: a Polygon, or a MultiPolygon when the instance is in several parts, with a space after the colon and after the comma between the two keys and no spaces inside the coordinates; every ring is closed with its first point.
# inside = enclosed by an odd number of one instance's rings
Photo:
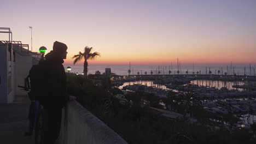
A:
{"type": "MultiPolygon", "coordinates": [[[[231,133],[225,128],[216,130],[202,123],[189,123],[183,118],[165,118],[150,112],[147,107],[140,106],[142,97],[150,101],[158,101],[159,98],[154,95],[142,92],[129,93],[125,95],[125,98],[134,101],[134,105],[121,105],[119,100],[112,97],[112,93],[121,94],[116,88],[107,90],[97,87],[90,79],[79,75],[68,75],[67,80],[68,92],[77,96],[80,104],[94,113],[128,143],[255,143],[253,134],[247,129],[237,129],[231,133]]],[[[165,101],[173,104],[172,98],[165,99],[165,101]]],[[[203,111],[195,115],[202,117],[200,122],[207,117],[220,118],[223,121],[232,117],[231,115],[210,115],[203,111]]]]}

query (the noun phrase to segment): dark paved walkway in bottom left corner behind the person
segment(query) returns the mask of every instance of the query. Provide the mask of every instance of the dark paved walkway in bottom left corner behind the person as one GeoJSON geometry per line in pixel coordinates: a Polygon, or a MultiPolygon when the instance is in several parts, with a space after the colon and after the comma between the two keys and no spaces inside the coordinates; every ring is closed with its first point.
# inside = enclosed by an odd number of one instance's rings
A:
{"type": "Polygon", "coordinates": [[[34,143],[33,136],[24,136],[28,129],[29,106],[29,102],[0,104],[0,143],[34,143]]]}

